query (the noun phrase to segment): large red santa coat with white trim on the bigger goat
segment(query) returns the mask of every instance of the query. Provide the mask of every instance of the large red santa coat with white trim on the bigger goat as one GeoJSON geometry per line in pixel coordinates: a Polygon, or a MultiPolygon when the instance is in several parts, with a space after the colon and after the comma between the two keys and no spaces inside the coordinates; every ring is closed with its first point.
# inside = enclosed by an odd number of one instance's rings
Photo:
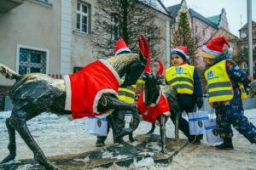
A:
{"type": "Polygon", "coordinates": [[[65,110],[72,111],[74,119],[100,116],[97,105],[102,94],[118,96],[117,92],[122,83],[119,74],[105,59],[96,60],[73,75],[64,76],[64,81],[67,93],[65,110]]]}

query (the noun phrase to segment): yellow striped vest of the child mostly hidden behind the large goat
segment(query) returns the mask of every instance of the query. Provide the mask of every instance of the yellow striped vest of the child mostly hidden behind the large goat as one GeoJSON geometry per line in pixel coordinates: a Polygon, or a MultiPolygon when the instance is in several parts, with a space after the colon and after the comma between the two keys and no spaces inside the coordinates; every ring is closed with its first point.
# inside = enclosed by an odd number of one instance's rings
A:
{"type": "Polygon", "coordinates": [[[126,88],[119,88],[119,99],[131,104],[134,104],[135,99],[135,85],[126,88]]]}

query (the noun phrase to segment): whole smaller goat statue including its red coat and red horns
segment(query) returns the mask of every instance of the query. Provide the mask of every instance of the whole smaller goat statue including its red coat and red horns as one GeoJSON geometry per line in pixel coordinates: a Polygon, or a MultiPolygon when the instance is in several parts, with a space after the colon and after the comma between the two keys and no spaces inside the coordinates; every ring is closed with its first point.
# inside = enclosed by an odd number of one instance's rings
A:
{"type": "MultiPolygon", "coordinates": [[[[171,114],[180,114],[180,107],[177,103],[176,91],[167,85],[163,85],[162,74],[164,66],[158,59],[160,69],[157,73],[150,71],[150,60],[148,59],[143,80],[145,86],[137,101],[137,107],[143,116],[143,121],[159,122],[161,137],[161,152],[166,153],[166,121],[171,114]]],[[[176,124],[177,126],[177,124],[176,124]]],[[[176,127],[177,129],[177,127],[176,127]]],[[[151,130],[153,133],[154,129],[151,130]]],[[[177,133],[176,133],[177,135],[177,133]]],[[[129,135],[131,142],[134,141],[132,133],[129,135]]]]}

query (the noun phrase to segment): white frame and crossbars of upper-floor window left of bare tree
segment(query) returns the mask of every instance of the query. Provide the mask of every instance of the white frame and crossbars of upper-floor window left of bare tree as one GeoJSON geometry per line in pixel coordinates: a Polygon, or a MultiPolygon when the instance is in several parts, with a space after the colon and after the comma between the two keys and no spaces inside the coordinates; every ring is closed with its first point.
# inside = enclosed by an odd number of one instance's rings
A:
{"type": "Polygon", "coordinates": [[[89,34],[90,33],[90,4],[84,3],[84,2],[81,2],[81,1],[78,1],[76,3],[76,19],[77,19],[76,20],[76,31],[78,31],[79,33],[83,33],[83,34],[89,34]],[[79,10],[78,10],[78,5],[80,6],[79,10]],[[87,13],[84,13],[82,11],[83,5],[87,8],[87,13]],[[80,15],[80,18],[79,18],[80,29],[78,28],[78,14],[80,15]],[[83,31],[83,29],[82,29],[83,16],[87,18],[86,32],[83,31]]]}

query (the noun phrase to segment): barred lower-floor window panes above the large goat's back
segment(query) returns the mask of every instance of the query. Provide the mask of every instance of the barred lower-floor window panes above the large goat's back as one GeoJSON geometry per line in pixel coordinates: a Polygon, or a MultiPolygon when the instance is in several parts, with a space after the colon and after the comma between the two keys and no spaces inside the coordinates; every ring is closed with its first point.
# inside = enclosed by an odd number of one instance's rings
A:
{"type": "Polygon", "coordinates": [[[19,74],[24,75],[31,72],[46,73],[46,52],[20,48],[19,74]]]}

